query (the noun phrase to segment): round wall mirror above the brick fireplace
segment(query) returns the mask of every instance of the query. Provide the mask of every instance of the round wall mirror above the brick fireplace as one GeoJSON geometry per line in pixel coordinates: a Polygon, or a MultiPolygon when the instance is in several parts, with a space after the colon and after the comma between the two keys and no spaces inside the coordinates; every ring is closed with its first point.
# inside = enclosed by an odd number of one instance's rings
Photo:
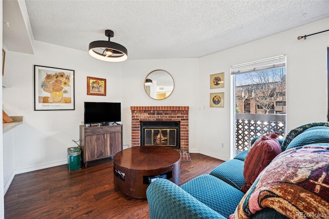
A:
{"type": "Polygon", "coordinates": [[[145,92],[156,100],[166,99],[174,89],[174,79],[168,71],[151,71],[144,80],[145,92]]]}

